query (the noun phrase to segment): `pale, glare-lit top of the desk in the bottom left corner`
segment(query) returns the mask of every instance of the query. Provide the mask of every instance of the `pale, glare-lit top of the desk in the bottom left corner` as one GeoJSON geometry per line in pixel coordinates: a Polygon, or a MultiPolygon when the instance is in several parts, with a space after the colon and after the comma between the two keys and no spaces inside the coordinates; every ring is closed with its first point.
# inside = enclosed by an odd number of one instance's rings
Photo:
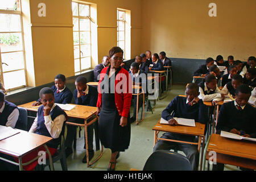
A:
{"type": "Polygon", "coordinates": [[[14,157],[23,156],[53,139],[23,130],[19,131],[20,133],[0,141],[1,153],[14,157]]]}

